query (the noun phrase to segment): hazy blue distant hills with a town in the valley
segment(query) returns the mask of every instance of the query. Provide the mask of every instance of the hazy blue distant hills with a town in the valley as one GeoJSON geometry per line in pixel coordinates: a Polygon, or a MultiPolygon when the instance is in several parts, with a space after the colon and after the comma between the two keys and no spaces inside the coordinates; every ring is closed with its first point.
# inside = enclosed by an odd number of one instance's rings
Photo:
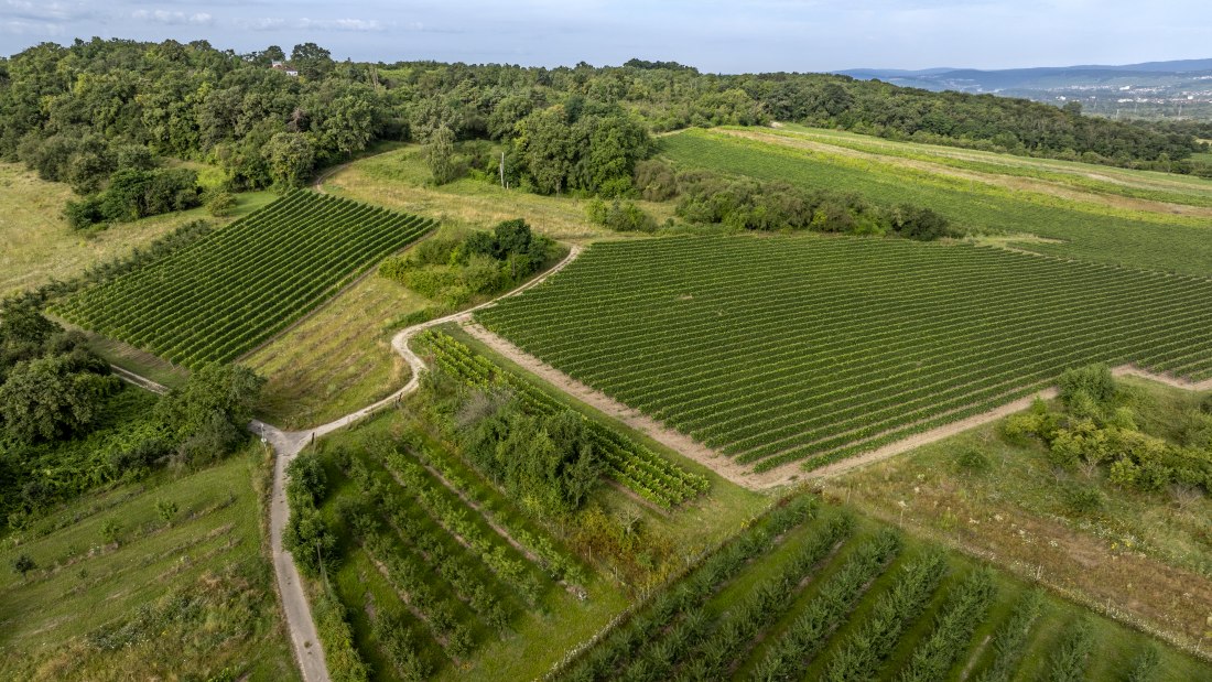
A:
{"type": "Polygon", "coordinates": [[[994,93],[1056,104],[1079,99],[1087,113],[1105,116],[1212,120],[1212,59],[1000,70],[848,69],[837,73],[936,92],[994,93]]]}

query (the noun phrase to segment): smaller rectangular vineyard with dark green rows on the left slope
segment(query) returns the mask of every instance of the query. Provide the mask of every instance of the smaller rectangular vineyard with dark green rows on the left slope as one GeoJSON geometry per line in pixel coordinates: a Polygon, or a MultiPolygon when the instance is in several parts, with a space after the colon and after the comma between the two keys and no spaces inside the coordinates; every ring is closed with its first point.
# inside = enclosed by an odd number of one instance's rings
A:
{"type": "Polygon", "coordinates": [[[433,222],[295,191],[52,311],[193,367],[256,348],[433,222]]]}

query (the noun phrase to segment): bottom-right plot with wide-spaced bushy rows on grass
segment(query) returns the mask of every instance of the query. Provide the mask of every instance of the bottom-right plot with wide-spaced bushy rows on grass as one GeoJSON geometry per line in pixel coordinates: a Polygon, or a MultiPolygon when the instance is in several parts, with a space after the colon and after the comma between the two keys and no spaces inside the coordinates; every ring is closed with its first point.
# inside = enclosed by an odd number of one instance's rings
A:
{"type": "Polygon", "coordinates": [[[1082,609],[814,498],[793,498],[553,676],[594,680],[1208,680],[1082,609]]]}

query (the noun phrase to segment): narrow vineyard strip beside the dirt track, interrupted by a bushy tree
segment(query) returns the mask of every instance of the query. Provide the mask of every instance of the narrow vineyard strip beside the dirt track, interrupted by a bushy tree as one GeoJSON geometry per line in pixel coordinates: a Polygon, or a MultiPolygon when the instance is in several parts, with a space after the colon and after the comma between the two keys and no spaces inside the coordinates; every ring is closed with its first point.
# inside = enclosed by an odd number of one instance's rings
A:
{"type": "MultiPolygon", "coordinates": [[[[561,406],[525,379],[475,355],[447,334],[430,329],[419,337],[438,366],[458,380],[476,388],[501,386],[516,395],[528,412],[550,414],[561,406]]],[[[707,477],[685,471],[647,447],[587,419],[594,447],[606,460],[611,478],[646,500],[663,508],[691,499],[708,488],[707,477]]]]}

